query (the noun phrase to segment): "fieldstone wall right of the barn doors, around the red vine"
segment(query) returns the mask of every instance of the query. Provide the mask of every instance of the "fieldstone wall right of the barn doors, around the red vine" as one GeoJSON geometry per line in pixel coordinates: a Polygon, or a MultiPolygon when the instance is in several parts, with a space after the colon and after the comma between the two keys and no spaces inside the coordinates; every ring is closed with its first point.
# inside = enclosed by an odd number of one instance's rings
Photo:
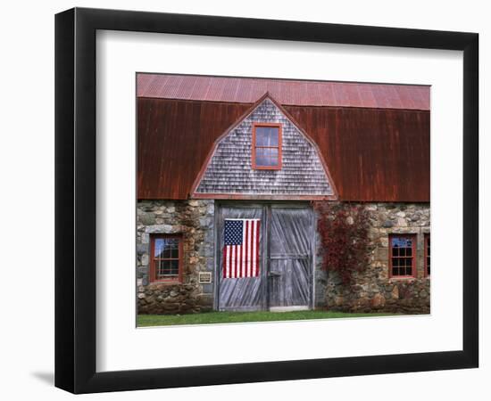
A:
{"type": "MultiPolygon", "coordinates": [[[[429,233],[429,203],[370,203],[360,205],[370,212],[370,262],[354,274],[354,284],[345,285],[336,273],[316,274],[318,307],[360,312],[429,313],[430,279],[424,272],[424,234],[429,233]],[[413,233],[417,238],[415,278],[389,278],[388,237],[413,233]],[[321,294],[325,294],[322,304],[321,294]]],[[[319,234],[318,234],[319,237],[319,234]]],[[[320,250],[320,238],[317,239],[320,250]]],[[[321,252],[316,270],[322,266],[321,252]]]]}

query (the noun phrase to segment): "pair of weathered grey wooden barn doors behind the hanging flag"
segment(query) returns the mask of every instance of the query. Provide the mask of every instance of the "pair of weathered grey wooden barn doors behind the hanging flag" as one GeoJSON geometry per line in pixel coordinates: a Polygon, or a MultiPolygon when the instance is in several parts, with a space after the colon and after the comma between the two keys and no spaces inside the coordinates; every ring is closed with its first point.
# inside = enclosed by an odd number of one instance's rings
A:
{"type": "Polygon", "coordinates": [[[307,309],[312,305],[312,209],[285,204],[223,205],[218,208],[217,309],[234,311],[307,309]],[[224,277],[226,219],[259,218],[257,277],[224,277]]]}

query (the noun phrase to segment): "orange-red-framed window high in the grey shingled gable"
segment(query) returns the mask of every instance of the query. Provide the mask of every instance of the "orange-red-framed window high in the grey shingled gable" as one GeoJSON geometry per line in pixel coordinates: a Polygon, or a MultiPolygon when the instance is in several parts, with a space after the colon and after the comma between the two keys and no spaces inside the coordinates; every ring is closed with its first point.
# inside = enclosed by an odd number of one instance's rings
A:
{"type": "Polygon", "coordinates": [[[252,161],[254,169],[281,168],[281,124],[254,123],[252,161]]]}

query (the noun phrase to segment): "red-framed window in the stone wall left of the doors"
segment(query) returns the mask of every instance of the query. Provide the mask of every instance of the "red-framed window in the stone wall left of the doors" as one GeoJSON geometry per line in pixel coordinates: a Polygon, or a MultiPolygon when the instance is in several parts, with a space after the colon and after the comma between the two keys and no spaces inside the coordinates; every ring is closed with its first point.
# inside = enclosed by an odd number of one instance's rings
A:
{"type": "Polygon", "coordinates": [[[182,282],[182,237],[154,234],[151,237],[151,282],[182,282]]]}

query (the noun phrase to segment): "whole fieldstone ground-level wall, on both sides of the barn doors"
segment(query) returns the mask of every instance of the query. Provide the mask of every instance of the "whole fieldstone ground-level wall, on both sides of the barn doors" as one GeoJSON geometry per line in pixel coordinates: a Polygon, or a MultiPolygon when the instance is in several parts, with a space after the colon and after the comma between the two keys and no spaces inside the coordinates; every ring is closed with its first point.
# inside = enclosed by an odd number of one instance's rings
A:
{"type": "MultiPolygon", "coordinates": [[[[370,211],[370,263],[345,286],[337,274],[322,270],[315,258],[314,306],[360,312],[429,313],[430,279],[424,275],[424,233],[429,233],[429,203],[367,203],[370,211]],[[388,277],[388,235],[417,234],[417,277],[388,277]]],[[[137,204],[137,307],[139,314],[182,314],[211,310],[214,267],[214,201],[139,201],[137,204]],[[149,280],[150,236],[183,236],[183,280],[149,280]],[[212,284],[199,284],[199,272],[211,272],[212,284]]],[[[320,238],[317,235],[317,249],[320,238]]]]}

